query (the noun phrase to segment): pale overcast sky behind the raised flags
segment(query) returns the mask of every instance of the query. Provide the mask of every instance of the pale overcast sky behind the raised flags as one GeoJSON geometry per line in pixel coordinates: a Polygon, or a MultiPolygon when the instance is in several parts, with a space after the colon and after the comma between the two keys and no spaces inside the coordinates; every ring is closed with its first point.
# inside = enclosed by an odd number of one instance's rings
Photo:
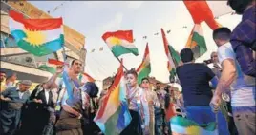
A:
{"type": "MultiPolygon", "coordinates": [[[[113,75],[119,63],[106,46],[101,36],[106,31],[132,29],[135,45],[139,48],[139,56],[126,54],[124,59],[126,68],[138,68],[143,57],[146,42],[149,43],[151,59],[151,76],[162,82],[168,82],[169,73],[166,68],[167,58],[164,53],[160,28],[167,34],[169,43],[179,52],[184,48],[188,35],[193,28],[193,21],[182,1],[31,1],[41,10],[48,11],[53,17],[63,17],[64,24],[81,32],[86,37],[87,48],[85,70],[96,80],[113,75]],[[63,6],[60,6],[63,4],[63,6]],[[54,8],[60,6],[57,10],[54,8]],[[183,29],[186,26],[186,29],[183,29]],[[147,36],[147,39],[143,39],[147,36]],[[98,51],[103,47],[103,51],[98,51]],[[95,48],[96,51],[90,51],[95,48]]],[[[234,29],[241,20],[239,15],[226,14],[217,21],[224,27],[234,29]]],[[[210,53],[217,47],[212,40],[212,30],[202,23],[203,34],[208,51],[198,61],[210,58],[210,53]]]]}

